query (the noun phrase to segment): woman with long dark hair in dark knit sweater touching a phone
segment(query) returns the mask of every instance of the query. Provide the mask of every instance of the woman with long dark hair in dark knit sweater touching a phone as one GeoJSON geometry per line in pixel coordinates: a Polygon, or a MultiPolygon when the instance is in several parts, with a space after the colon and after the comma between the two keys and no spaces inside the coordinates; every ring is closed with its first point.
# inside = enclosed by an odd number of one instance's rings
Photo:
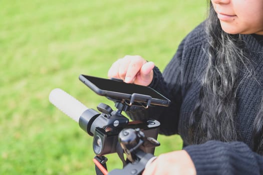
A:
{"type": "Polygon", "coordinates": [[[161,73],[141,56],[113,63],[108,76],[149,85],[169,107],[136,107],[183,150],[159,155],[143,174],[263,174],[263,1],[211,0],[161,73]]]}

